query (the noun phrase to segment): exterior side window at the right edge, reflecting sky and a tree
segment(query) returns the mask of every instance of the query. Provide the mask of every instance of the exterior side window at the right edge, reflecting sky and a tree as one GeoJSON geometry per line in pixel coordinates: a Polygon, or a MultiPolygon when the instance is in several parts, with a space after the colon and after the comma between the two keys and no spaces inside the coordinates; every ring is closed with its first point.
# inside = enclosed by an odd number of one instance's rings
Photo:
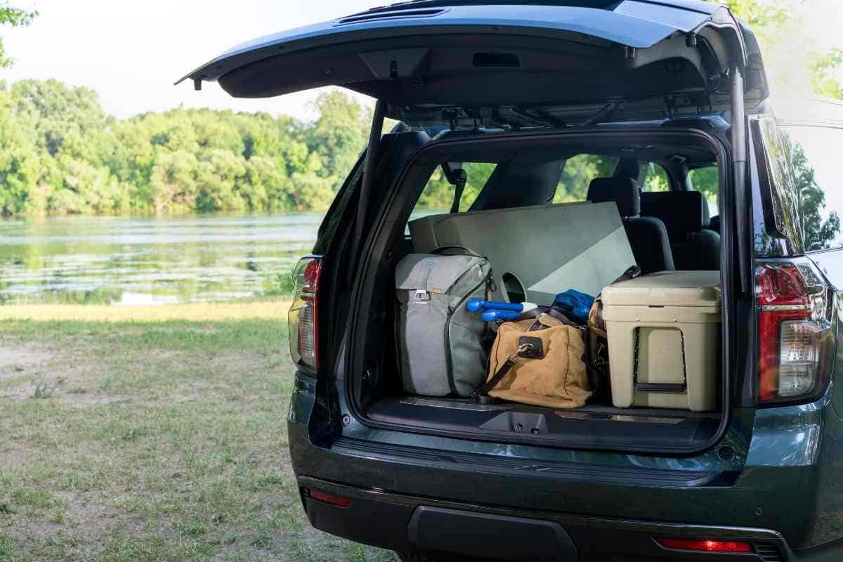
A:
{"type": "Polygon", "coordinates": [[[799,197],[805,249],[843,247],[843,166],[839,162],[843,129],[784,126],[780,131],[799,197]]]}

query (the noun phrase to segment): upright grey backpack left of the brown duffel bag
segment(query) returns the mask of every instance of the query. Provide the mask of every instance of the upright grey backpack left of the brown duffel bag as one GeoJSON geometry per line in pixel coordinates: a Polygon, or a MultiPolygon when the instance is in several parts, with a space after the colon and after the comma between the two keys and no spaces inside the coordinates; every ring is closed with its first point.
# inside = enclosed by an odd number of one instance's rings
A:
{"type": "Polygon", "coordinates": [[[486,323],[465,302],[486,298],[492,282],[489,261],[477,255],[410,254],[399,262],[398,355],[406,392],[470,396],[481,386],[486,323]]]}

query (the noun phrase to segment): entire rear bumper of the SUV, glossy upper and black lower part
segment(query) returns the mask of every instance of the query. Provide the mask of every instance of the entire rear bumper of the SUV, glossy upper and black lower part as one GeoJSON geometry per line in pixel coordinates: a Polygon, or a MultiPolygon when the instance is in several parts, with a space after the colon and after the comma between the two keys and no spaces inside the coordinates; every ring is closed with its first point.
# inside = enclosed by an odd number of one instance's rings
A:
{"type": "Polygon", "coordinates": [[[824,511],[815,499],[817,474],[810,464],[747,467],[736,481],[690,487],[666,480],[573,481],[570,474],[467,465],[457,455],[426,456],[415,447],[402,447],[407,455],[390,454],[373,442],[361,442],[356,450],[347,441],[342,446],[343,440],[319,447],[310,442],[307,426],[290,420],[288,427],[300,486],[355,499],[345,508],[303,497],[311,523],[360,543],[399,551],[427,548],[410,540],[411,519],[425,506],[556,522],[577,549],[573,560],[843,559],[843,543],[835,541],[839,533],[816,549],[799,546],[824,511]],[[653,537],[743,539],[771,555],[665,551],[653,537]]]}

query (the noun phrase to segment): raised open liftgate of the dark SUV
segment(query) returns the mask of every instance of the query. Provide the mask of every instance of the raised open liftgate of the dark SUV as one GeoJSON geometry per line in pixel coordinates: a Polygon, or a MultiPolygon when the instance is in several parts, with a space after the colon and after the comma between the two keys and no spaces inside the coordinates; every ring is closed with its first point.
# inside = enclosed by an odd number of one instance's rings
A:
{"type": "MultiPolygon", "coordinates": [[[[357,14],[238,45],[182,79],[197,86],[218,81],[229,94],[246,98],[343,86],[396,107],[565,105],[676,95],[682,98],[678,105],[727,110],[725,69],[744,67],[754,52],[728,9],[716,5],[559,4],[357,14]],[[507,86],[513,82],[518,88],[507,86]],[[709,97],[698,99],[701,94],[709,97]]],[[[757,65],[763,77],[760,58],[757,65]]],[[[760,83],[745,82],[748,91],[757,90],[749,95],[754,102],[765,96],[760,83]]]]}

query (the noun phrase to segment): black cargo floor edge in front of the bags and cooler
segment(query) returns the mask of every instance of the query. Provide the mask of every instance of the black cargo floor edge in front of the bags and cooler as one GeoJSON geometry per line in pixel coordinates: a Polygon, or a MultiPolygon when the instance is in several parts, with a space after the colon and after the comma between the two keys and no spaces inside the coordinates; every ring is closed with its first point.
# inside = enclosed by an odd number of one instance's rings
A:
{"type": "Polygon", "coordinates": [[[711,439],[720,425],[717,413],[677,409],[622,409],[589,405],[551,409],[470,399],[393,397],[368,409],[368,418],[416,430],[457,431],[475,438],[528,437],[567,447],[642,449],[694,447],[711,439]]]}

